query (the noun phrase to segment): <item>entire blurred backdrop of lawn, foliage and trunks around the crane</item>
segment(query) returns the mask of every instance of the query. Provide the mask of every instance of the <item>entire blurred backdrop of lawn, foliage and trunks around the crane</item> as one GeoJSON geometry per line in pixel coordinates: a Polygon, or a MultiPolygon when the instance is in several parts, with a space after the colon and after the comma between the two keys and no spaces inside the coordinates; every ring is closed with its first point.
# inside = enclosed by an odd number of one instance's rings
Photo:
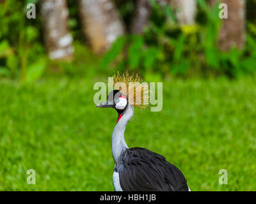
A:
{"type": "Polygon", "coordinates": [[[255,37],[255,0],[0,0],[0,190],[113,191],[117,115],[93,85],[128,70],[163,82],[129,147],[165,156],[192,191],[255,191],[255,37]]]}

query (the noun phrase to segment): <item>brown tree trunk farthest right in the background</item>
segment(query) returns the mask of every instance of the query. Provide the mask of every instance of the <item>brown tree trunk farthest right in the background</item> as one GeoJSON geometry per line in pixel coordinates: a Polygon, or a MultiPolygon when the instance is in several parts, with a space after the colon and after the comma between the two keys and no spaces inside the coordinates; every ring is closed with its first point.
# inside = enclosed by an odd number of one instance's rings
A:
{"type": "Polygon", "coordinates": [[[228,6],[228,18],[223,18],[218,45],[228,51],[236,46],[244,47],[245,41],[245,0],[222,0],[228,6]]]}

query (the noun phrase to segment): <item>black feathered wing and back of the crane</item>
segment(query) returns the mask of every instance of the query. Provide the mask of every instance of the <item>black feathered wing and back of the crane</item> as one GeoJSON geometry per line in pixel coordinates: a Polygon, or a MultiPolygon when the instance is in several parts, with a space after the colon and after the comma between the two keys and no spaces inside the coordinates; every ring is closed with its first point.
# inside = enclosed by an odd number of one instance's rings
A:
{"type": "Polygon", "coordinates": [[[180,170],[148,149],[125,150],[116,168],[123,191],[188,191],[180,170]]]}

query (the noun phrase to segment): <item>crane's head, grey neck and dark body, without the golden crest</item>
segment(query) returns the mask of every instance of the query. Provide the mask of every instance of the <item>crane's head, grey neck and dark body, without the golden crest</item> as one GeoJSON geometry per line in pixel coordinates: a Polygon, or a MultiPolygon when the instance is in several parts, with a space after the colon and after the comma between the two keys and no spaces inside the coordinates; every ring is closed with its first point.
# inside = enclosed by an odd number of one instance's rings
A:
{"type": "Polygon", "coordinates": [[[145,148],[129,148],[125,143],[125,128],[134,114],[127,96],[114,90],[106,103],[96,107],[115,108],[118,112],[111,140],[115,191],[190,191],[184,175],[165,157],[145,148]]]}

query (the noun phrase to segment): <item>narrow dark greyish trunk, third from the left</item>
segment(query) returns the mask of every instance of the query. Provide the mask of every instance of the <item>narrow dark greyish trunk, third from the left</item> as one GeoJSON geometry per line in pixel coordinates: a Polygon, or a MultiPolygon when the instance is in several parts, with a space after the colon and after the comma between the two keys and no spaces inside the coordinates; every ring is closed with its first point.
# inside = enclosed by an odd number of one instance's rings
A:
{"type": "Polygon", "coordinates": [[[143,33],[143,29],[148,25],[151,9],[152,8],[148,0],[137,0],[135,15],[131,25],[131,33],[143,33]]]}

